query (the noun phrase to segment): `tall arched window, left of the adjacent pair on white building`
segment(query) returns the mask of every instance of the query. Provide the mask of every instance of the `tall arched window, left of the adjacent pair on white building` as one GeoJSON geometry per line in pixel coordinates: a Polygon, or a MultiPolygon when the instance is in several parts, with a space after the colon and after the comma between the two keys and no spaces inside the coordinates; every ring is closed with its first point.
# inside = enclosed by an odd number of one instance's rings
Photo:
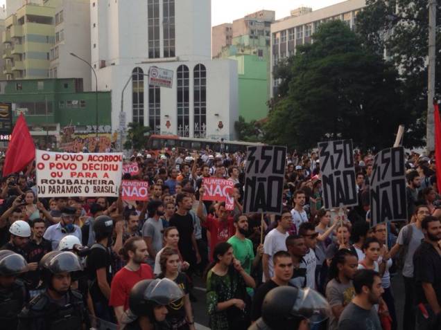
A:
{"type": "Polygon", "coordinates": [[[190,72],[186,65],[178,67],[178,136],[189,136],[190,131],[190,72]]]}

